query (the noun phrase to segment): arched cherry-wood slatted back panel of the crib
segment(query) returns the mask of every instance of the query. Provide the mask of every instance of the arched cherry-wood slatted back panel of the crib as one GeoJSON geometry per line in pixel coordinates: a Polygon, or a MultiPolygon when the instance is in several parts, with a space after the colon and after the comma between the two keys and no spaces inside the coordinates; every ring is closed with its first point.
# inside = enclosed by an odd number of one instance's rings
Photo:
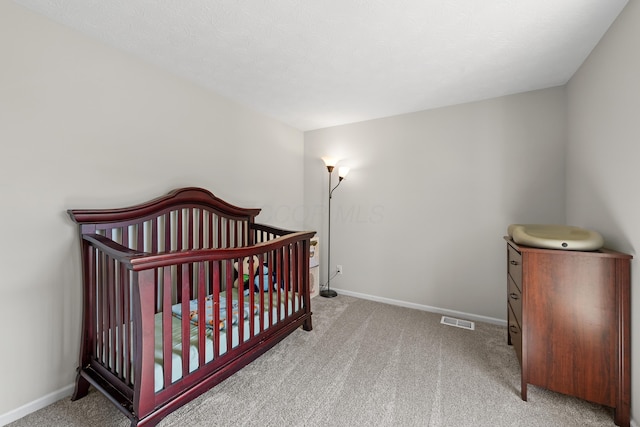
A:
{"type": "Polygon", "coordinates": [[[68,213],[81,234],[99,234],[135,251],[160,253],[253,245],[251,230],[260,209],[240,208],[208,190],[188,187],[126,208],[68,213]]]}

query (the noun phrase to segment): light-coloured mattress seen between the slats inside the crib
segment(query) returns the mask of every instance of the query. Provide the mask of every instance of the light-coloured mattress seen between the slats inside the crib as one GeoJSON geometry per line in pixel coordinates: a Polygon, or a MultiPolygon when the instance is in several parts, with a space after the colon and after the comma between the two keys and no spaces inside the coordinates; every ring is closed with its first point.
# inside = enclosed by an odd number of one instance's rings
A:
{"type": "MultiPolygon", "coordinates": [[[[236,290],[234,289],[234,299],[237,299],[236,290]]],[[[247,297],[245,297],[247,298],[247,297]]],[[[256,299],[257,299],[256,295],[256,299]]],[[[265,295],[265,299],[267,296],[265,295]]],[[[265,302],[265,306],[268,305],[268,301],[265,302]]],[[[273,304],[272,304],[272,319],[271,323],[275,324],[278,321],[278,310],[277,310],[278,300],[277,294],[273,295],[273,304]]],[[[298,300],[289,299],[287,304],[287,309],[289,313],[292,311],[297,311],[298,300]]],[[[283,320],[285,316],[285,304],[280,302],[280,320],[283,320]]],[[[269,313],[263,313],[264,317],[264,329],[269,327],[269,313]]],[[[182,378],[182,321],[174,316],[171,316],[172,321],[172,353],[171,353],[171,382],[176,382],[180,378],[182,378]]],[[[154,368],[154,378],[155,378],[155,391],[158,392],[162,390],[164,387],[164,364],[163,364],[163,351],[162,351],[162,313],[157,313],[155,316],[155,368],[154,368]]],[[[238,346],[240,343],[240,333],[239,333],[240,325],[234,325],[231,328],[231,347],[234,348],[238,346]]],[[[244,340],[248,340],[250,338],[250,322],[249,319],[244,321],[243,327],[243,337],[244,340]]],[[[254,316],[254,335],[260,332],[260,315],[256,314],[254,316]]],[[[198,368],[198,327],[192,326],[190,330],[190,342],[191,346],[189,348],[189,372],[193,372],[198,368]]],[[[220,355],[222,356],[227,352],[227,331],[221,330],[220,334],[220,355]]],[[[208,363],[213,360],[213,340],[210,338],[209,334],[206,335],[205,342],[205,363],[208,363]]]]}

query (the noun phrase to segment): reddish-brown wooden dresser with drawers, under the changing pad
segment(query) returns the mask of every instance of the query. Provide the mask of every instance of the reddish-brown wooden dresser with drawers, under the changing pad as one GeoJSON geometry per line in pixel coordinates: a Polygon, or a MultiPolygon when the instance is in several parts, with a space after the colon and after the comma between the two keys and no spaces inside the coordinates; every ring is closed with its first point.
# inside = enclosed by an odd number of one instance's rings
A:
{"type": "Polygon", "coordinates": [[[507,240],[508,342],[527,384],[614,408],[629,426],[631,255],[507,240]]]}

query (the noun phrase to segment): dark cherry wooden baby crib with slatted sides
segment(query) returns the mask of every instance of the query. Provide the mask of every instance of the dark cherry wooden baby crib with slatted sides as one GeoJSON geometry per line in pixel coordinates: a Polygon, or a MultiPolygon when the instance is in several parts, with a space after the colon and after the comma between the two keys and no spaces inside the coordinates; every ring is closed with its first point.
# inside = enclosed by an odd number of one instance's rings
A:
{"type": "Polygon", "coordinates": [[[156,425],[298,327],[312,329],[314,233],[256,224],[259,212],[201,188],[69,210],[84,289],[73,400],[93,385],[132,426],[156,425]]]}

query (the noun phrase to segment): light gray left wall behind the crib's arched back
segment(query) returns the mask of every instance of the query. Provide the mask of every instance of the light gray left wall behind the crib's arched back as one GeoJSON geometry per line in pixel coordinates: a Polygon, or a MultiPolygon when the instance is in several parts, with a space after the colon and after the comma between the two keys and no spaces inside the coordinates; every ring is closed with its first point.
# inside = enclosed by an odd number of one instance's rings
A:
{"type": "Polygon", "coordinates": [[[299,228],[274,209],[302,206],[304,146],[298,130],[8,1],[0,33],[2,415],[68,395],[75,378],[82,292],[67,209],[196,185],[299,228]]]}

